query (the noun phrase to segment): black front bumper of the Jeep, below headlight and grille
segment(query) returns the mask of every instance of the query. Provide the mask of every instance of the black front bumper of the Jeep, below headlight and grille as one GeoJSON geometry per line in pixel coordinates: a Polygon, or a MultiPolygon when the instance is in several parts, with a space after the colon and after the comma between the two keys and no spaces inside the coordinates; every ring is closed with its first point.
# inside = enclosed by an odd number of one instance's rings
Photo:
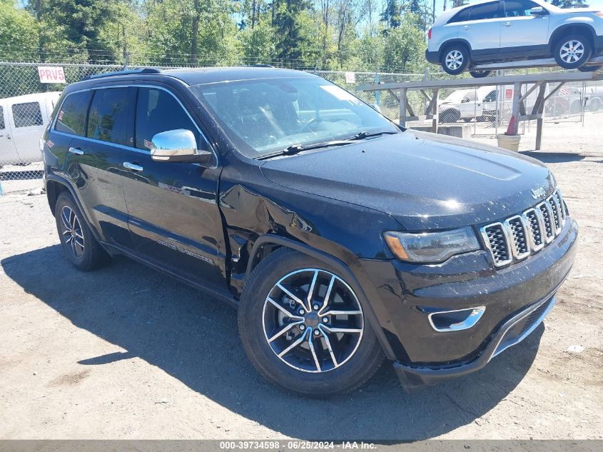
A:
{"type": "Polygon", "coordinates": [[[371,305],[395,353],[402,384],[420,386],[477,371],[525,338],[552,307],[554,293],[574,262],[576,241],[577,224],[568,216],[552,243],[507,268],[494,268],[485,251],[437,265],[365,261],[377,294],[371,305]],[[476,306],[485,306],[485,311],[472,328],[436,331],[430,325],[430,312],[476,306]],[[517,333],[514,326],[537,309],[537,318],[517,333]],[[513,331],[517,340],[508,336],[513,331]]]}

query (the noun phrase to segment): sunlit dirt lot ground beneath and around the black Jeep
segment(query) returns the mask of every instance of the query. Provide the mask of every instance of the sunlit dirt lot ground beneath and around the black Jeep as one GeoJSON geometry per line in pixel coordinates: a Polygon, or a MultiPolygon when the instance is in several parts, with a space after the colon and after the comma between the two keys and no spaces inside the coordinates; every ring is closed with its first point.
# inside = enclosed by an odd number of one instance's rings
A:
{"type": "Polygon", "coordinates": [[[603,438],[603,151],[591,143],[559,137],[567,153],[538,155],[581,227],[557,306],[483,371],[412,395],[387,365],[341,398],[273,388],[231,308],[125,258],[74,271],[45,196],[0,196],[0,438],[603,438]]]}

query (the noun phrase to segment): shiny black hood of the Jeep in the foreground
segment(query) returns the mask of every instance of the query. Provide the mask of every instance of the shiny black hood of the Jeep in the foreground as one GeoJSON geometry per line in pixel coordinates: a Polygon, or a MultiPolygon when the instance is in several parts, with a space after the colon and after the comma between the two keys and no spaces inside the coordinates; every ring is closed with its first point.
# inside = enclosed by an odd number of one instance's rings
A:
{"type": "Polygon", "coordinates": [[[521,154],[450,136],[405,131],[265,161],[275,184],[369,207],[407,230],[454,228],[510,216],[555,186],[546,166],[521,154]]]}

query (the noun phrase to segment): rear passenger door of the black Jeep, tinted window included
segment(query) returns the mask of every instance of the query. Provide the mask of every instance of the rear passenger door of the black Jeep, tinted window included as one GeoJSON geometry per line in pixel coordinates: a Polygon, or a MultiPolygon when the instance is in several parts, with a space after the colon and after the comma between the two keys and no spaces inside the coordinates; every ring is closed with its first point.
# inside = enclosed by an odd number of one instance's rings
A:
{"type": "Polygon", "coordinates": [[[132,92],[130,88],[102,86],[70,94],[56,122],[59,134],[71,138],[64,171],[73,181],[88,218],[103,241],[126,248],[131,238],[121,181],[126,171],[121,163],[132,127],[128,99],[132,92]]]}

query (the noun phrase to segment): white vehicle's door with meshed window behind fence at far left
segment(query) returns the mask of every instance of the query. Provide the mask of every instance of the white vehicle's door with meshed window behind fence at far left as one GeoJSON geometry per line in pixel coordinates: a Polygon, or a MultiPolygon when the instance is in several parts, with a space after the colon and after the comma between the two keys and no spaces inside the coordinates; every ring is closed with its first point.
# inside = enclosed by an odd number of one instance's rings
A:
{"type": "Polygon", "coordinates": [[[12,137],[19,159],[24,163],[41,161],[40,138],[44,133],[44,119],[39,101],[10,104],[12,137]]]}

